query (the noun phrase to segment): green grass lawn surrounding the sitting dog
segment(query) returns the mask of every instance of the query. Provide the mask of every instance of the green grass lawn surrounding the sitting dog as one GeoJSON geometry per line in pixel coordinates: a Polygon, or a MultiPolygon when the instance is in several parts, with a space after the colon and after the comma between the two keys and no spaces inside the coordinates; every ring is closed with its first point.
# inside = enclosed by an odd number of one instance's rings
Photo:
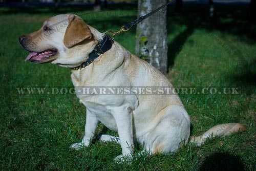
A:
{"type": "MultiPolygon", "coordinates": [[[[19,46],[19,35],[39,29],[46,18],[59,13],[81,15],[102,32],[136,18],[136,8],[109,8],[116,13],[100,17],[88,17],[85,14],[92,11],[82,8],[0,9],[0,170],[255,170],[256,25],[246,19],[243,6],[228,7],[230,14],[225,6],[217,7],[219,22],[213,29],[205,7],[185,6],[182,14],[172,8],[167,75],[178,88],[239,88],[239,95],[180,98],[191,116],[191,135],[227,122],[245,125],[243,133],[209,140],[201,147],[188,144],[167,156],[137,156],[131,165],[115,163],[121,147],[113,142],[95,140],[86,149],[69,149],[83,137],[86,120],[86,108],[75,95],[18,95],[16,88],[73,86],[69,69],[24,62],[28,52],[19,46]]],[[[116,40],[135,53],[135,33],[131,29],[116,40]]],[[[117,135],[102,124],[99,132],[117,135]]]]}

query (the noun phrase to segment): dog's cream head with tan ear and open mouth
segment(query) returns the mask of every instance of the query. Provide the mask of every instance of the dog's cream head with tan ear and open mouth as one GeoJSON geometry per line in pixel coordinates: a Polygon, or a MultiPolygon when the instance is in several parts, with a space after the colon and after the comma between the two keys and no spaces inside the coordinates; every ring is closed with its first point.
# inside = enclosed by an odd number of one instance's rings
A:
{"type": "Polygon", "coordinates": [[[20,36],[19,42],[31,52],[25,61],[75,67],[88,58],[101,37],[79,16],[61,14],[46,20],[38,31],[20,36]]]}

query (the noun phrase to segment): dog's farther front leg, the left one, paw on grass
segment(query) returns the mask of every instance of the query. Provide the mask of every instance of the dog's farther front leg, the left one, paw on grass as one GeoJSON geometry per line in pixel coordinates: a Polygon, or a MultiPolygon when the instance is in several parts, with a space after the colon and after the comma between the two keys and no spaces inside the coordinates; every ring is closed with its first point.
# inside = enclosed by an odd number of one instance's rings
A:
{"type": "Polygon", "coordinates": [[[74,143],[70,146],[72,149],[79,149],[82,146],[88,146],[95,135],[99,120],[88,109],[86,110],[86,126],[84,137],[81,142],[74,143]]]}

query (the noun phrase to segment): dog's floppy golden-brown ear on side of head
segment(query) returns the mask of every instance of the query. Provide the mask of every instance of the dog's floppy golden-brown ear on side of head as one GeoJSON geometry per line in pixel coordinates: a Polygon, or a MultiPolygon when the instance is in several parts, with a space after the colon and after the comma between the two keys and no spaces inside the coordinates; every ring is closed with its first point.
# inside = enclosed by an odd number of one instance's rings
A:
{"type": "Polygon", "coordinates": [[[91,38],[92,33],[86,23],[74,14],[69,15],[69,25],[64,36],[64,45],[70,48],[84,39],[91,38]]]}

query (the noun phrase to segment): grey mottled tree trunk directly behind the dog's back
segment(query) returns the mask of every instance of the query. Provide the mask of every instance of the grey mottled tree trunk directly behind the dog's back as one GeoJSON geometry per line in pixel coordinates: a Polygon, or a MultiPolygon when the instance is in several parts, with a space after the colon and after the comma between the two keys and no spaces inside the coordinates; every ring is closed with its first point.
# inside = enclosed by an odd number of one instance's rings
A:
{"type": "MultiPolygon", "coordinates": [[[[163,0],[139,0],[138,17],[145,15],[167,1],[163,0]]],[[[136,55],[163,74],[167,73],[167,12],[166,7],[146,18],[137,25],[136,55]]]]}

